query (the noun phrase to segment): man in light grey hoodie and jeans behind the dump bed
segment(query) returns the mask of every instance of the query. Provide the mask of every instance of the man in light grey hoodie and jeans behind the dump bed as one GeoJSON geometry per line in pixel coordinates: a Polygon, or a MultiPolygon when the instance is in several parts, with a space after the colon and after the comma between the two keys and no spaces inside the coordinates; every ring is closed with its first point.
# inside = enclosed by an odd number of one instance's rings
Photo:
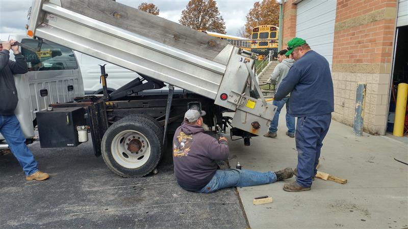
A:
{"type": "MultiPolygon", "coordinates": [[[[285,53],[288,50],[283,49],[278,52],[277,58],[279,61],[279,64],[276,65],[275,69],[273,70],[273,73],[271,77],[268,79],[270,82],[271,80],[276,79],[276,87],[275,90],[279,88],[279,85],[281,85],[282,80],[288,75],[289,69],[292,67],[292,65],[295,63],[295,61],[291,58],[287,58],[285,53]]],[[[279,120],[279,113],[281,113],[282,107],[284,107],[286,103],[286,111],[289,110],[289,96],[288,94],[285,98],[282,100],[276,101],[273,100],[273,105],[277,106],[275,116],[272,119],[272,122],[269,126],[269,130],[266,134],[264,134],[265,137],[276,137],[277,134],[277,125],[278,125],[278,120],[279,120]]],[[[286,112],[286,126],[288,127],[288,131],[286,132],[286,135],[289,137],[295,137],[295,117],[292,117],[286,112]]]]}

